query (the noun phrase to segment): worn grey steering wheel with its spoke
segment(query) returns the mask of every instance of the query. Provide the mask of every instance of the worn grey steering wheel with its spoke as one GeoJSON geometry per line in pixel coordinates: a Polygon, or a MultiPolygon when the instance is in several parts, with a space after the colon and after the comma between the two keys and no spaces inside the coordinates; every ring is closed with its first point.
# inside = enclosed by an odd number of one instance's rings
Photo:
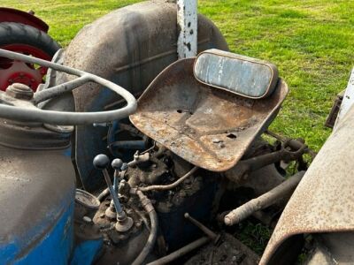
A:
{"type": "Polygon", "coordinates": [[[120,95],[127,102],[127,106],[119,110],[107,110],[97,112],[68,112],[56,110],[41,110],[39,108],[23,108],[12,105],[2,104],[0,101],[0,117],[8,118],[23,122],[42,122],[52,125],[89,125],[94,123],[105,123],[113,120],[119,120],[128,117],[136,110],[136,99],[134,95],[125,88],[120,87],[113,82],[98,77],[89,72],[83,72],[62,64],[55,64],[35,57],[28,57],[23,54],[0,49],[0,57],[8,57],[13,60],[23,61],[29,64],[39,64],[44,67],[52,68],[59,72],[66,72],[71,75],[78,76],[78,79],[65,82],[55,87],[42,90],[35,93],[32,102],[35,104],[43,102],[58,95],[62,95],[68,91],[72,91],[76,87],[87,82],[95,82],[103,87],[107,87],[117,95],[120,95]]]}

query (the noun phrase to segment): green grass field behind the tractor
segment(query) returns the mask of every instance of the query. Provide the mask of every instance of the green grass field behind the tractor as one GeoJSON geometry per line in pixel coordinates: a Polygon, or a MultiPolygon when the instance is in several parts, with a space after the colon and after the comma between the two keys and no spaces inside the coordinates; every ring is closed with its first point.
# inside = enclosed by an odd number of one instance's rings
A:
{"type": "MultiPolygon", "coordinates": [[[[50,34],[67,46],[89,22],[135,0],[2,0],[1,5],[34,10],[50,34]]],[[[232,51],[276,64],[290,88],[272,125],[275,132],[302,137],[318,150],[330,130],[323,126],[332,100],[346,87],[354,64],[354,1],[199,0],[232,51]]]]}

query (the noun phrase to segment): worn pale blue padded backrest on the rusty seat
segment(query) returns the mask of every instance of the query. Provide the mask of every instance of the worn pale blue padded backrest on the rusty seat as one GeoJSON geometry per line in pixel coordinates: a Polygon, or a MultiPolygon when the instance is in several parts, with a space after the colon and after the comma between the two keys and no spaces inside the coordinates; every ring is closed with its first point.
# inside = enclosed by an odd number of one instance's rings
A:
{"type": "Polygon", "coordinates": [[[275,65],[220,49],[200,53],[193,72],[206,85],[253,99],[271,95],[278,82],[275,65]]]}

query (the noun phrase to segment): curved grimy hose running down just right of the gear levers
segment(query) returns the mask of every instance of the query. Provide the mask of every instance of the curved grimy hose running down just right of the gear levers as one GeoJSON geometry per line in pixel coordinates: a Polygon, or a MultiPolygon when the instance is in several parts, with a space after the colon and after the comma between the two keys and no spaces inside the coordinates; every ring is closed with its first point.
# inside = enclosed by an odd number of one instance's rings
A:
{"type": "Polygon", "coordinates": [[[151,229],[148,240],[145,246],[142,248],[142,252],[137,256],[132,265],[141,265],[145,261],[146,257],[150,254],[153,247],[155,246],[156,239],[158,238],[158,215],[153,208],[151,201],[146,197],[142,191],[133,189],[133,193],[138,195],[140,201],[142,202],[142,207],[148,212],[150,217],[151,229]]]}

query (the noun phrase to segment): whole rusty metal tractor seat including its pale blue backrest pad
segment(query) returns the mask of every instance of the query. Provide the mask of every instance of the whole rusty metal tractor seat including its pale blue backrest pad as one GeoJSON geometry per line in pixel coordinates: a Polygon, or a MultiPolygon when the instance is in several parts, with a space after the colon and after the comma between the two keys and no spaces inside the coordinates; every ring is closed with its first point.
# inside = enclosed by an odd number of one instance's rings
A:
{"type": "Polygon", "coordinates": [[[130,120],[189,163],[225,171],[266,130],[287,94],[273,64],[208,49],[166,67],[130,120]]]}

